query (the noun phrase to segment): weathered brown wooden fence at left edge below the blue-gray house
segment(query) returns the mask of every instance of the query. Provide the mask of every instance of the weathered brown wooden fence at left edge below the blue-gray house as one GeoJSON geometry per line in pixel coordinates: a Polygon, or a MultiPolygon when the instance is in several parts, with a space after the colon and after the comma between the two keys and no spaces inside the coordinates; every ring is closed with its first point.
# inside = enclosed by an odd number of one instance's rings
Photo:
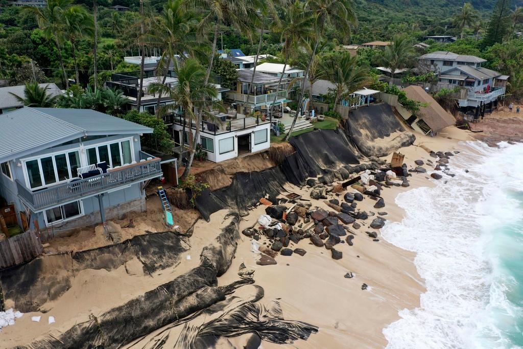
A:
{"type": "Polygon", "coordinates": [[[18,265],[43,253],[36,233],[28,231],[0,241],[0,269],[18,265]]]}

